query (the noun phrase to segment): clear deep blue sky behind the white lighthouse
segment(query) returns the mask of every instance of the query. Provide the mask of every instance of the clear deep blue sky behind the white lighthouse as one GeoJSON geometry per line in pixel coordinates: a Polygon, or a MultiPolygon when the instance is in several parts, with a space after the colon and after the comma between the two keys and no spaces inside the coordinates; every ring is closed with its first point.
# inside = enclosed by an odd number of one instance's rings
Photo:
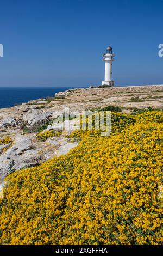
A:
{"type": "Polygon", "coordinates": [[[0,86],[99,85],[111,44],[116,85],[163,84],[162,0],[5,0],[0,86]]]}

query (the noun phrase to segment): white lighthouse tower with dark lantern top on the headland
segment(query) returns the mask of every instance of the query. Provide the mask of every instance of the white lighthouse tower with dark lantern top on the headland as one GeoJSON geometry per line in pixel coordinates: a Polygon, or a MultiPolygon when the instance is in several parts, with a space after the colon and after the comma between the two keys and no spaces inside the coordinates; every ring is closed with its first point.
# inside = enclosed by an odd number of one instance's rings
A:
{"type": "Polygon", "coordinates": [[[102,86],[114,86],[114,81],[112,81],[112,62],[114,61],[114,53],[112,53],[112,48],[106,49],[106,53],[103,54],[103,60],[105,62],[105,81],[102,81],[102,86]]]}

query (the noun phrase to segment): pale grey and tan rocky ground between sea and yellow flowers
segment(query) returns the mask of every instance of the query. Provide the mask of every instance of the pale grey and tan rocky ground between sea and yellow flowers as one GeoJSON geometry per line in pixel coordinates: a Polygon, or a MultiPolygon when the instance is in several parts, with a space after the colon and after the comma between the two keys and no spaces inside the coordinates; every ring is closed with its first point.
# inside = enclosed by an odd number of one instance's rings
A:
{"type": "MultiPolygon", "coordinates": [[[[84,109],[120,106],[130,113],[133,108],[162,109],[163,86],[73,89],[57,93],[52,98],[23,103],[0,110],[0,182],[5,176],[22,168],[36,166],[53,156],[66,154],[76,147],[62,133],[39,141],[38,132],[52,129],[52,123],[64,112],[76,114],[84,109]],[[8,138],[8,142],[4,142],[8,138]]],[[[72,119],[70,122],[74,124],[72,119]]],[[[60,123],[61,124],[61,123],[60,123]]]]}

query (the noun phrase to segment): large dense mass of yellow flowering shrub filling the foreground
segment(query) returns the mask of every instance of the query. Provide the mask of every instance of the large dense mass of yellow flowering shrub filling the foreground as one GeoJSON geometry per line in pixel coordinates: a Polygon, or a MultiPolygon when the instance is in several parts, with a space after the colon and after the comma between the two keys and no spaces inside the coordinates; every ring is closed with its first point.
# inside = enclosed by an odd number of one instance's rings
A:
{"type": "Polygon", "coordinates": [[[137,114],[110,137],[85,132],[67,155],[9,175],[0,243],[161,245],[161,118],[137,114]]]}

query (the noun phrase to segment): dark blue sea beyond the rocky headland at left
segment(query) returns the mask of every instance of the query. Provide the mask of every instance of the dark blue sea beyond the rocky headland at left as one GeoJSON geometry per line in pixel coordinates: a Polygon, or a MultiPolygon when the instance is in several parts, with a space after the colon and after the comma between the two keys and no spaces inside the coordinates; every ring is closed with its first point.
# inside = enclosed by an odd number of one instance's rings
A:
{"type": "Polygon", "coordinates": [[[29,100],[43,99],[71,87],[0,87],[0,108],[21,105],[29,100]]]}

